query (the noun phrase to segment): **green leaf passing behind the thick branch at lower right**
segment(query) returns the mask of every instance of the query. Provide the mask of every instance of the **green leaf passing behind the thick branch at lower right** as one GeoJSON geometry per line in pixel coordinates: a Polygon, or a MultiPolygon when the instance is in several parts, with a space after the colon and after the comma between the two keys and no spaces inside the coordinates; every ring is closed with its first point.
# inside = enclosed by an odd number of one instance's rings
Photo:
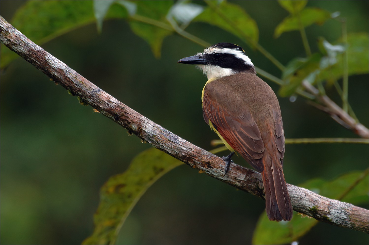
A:
{"type": "MultiPolygon", "coordinates": [[[[352,204],[368,203],[368,169],[342,175],[333,181],[312,179],[300,185],[319,195],[352,204]]],[[[314,207],[311,207],[314,208],[314,207]]],[[[317,220],[294,212],[291,221],[270,221],[264,212],[254,231],[252,244],[290,244],[306,234],[317,220]]]]}

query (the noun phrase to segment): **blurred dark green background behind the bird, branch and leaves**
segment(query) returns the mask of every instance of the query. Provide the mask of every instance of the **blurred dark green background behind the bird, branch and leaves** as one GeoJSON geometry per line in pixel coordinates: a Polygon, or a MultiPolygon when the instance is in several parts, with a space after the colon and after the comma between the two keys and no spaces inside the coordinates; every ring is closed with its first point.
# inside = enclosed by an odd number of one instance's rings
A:
{"type": "MultiPolygon", "coordinates": [[[[14,12],[24,2],[1,1],[1,16],[12,24],[14,12]]],[[[259,43],[280,62],[305,56],[298,31],[273,38],[276,25],[287,16],[277,1],[230,2],[254,18],[259,43]]],[[[368,32],[368,1],[309,1],[307,6],[340,11],[348,20],[348,33],[368,32]]],[[[256,66],[280,77],[269,60],[221,29],[195,22],[186,31],[212,44],[237,43],[256,66]]],[[[314,52],[317,38],[337,40],[341,25],[328,20],[306,32],[314,52]]],[[[206,78],[193,66],[176,63],[203,47],[171,35],[164,39],[161,58],[155,59],[148,44],[124,20],[104,22],[101,34],[95,24],[89,24],[42,47],[142,115],[199,147],[212,149],[210,141],[217,137],[204,123],[201,111],[206,78]]],[[[349,77],[349,102],[366,127],[368,80],[368,74],[349,77]]],[[[333,88],[327,93],[341,103],[333,88]]],[[[21,58],[1,71],[0,99],[0,243],[81,243],[93,231],[100,187],[151,146],[93,113],[92,107],[78,104],[76,97],[21,58]]],[[[303,98],[293,103],[289,98],[279,101],[286,138],[356,137],[303,98]]],[[[234,161],[248,166],[241,159],[234,161]]],[[[284,175],[293,185],[317,177],[330,180],[367,167],[365,144],[286,146],[284,175]]],[[[368,204],[363,207],[368,209],[368,204]]],[[[123,225],[117,243],[248,244],[264,209],[264,200],[181,165],[148,189],[123,225]]],[[[363,232],[319,223],[299,242],[368,244],[369,239],[363,232]]]]}

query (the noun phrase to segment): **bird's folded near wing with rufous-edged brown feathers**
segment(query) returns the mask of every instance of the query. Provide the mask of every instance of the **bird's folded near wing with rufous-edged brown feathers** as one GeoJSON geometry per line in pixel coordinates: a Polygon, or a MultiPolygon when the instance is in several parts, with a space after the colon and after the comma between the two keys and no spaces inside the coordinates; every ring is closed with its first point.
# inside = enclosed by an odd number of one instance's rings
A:
{"type": "Polygon", "coordinates": [[[247,108],[232,112],[232,109],[220,105],[207,93],[203,97],[203,115],[206,123],[213,124],[215,129],[258,171],[263,170],[261,158],[264,144],[261,133],[251,112],[247,108]],[[237,114],[237,115],[236,115],[237,114]]]}

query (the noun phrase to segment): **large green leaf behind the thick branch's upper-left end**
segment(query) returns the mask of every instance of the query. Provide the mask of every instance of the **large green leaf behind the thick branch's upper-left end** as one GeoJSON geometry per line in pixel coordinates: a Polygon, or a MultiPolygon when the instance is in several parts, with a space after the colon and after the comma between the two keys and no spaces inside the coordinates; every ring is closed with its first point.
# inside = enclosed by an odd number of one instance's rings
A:
{"type": "MultiPolygon", "coordinates": [[[[127,17],[125,8],[115,4],[107,18],[127,17]]],[[[27,1],[14,14],[11,24],[38,45],[95,21],[92,1],[27,1]]],[[[1,65],[19,57],[1,46],[1,65]]]]}

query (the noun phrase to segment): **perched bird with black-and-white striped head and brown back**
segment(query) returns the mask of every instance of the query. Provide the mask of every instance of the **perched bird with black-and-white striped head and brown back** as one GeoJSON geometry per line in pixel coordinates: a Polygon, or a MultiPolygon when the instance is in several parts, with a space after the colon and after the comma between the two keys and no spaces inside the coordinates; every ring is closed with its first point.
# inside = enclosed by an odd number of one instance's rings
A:
{"type": "Polygon", "coordinates": [[[292,205],[283,175],[284,132],[272,88],[256,76],[254,64],[238,45],[218,43],[180,59],[196,64],[208,80],[202,92],[203,116],[225,146],[262,175],[270,220],[291,220],[292,205]]]}

